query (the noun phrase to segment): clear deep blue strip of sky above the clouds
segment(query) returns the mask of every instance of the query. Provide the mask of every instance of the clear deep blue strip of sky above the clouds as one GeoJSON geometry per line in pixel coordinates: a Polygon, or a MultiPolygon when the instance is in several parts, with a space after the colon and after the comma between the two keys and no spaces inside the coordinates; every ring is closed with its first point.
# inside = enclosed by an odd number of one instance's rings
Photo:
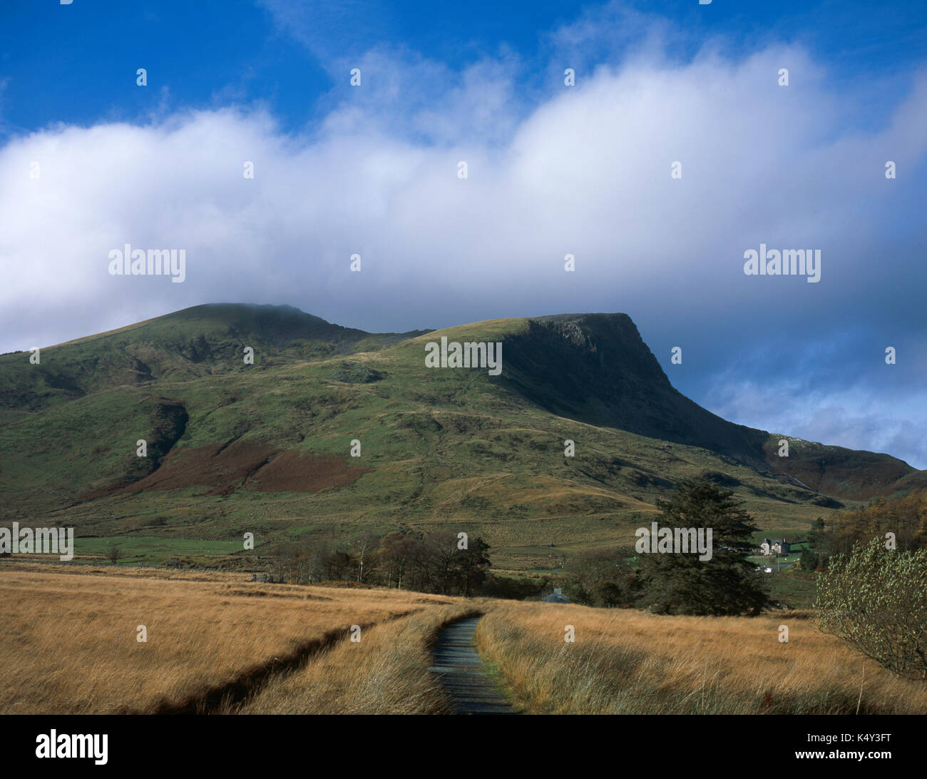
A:
{"type": "MultiPolygon", "coordinates": [[[[260,100],[282,126],[297,130],[318,119],[326,96],[337,88],[334,62],[384,44],[407,47],[453,70],[510,51],[527,63],[525,81],[539,88],[552,52],[551,33],[601,5],[7,3],[0,9],[3,131],[20,133],[57,121],[144,121],[152,109],[150,92],[161,89],[168,91],[165,106],[172,110],[260,100]],[[134,88],[138,67],[150,74],[153,89],[147,93],[134,88]]],[[[706,38],[724,36],[731,47],[750,40],[802,43],[832,63],[839,79],[905,73],[927,59],[927,4],[919,0],[623,5],[677,25],[680,58],[692,57],[706,38]]],[[[608,42],[602,48],[614,56],[608,42]]]]}

